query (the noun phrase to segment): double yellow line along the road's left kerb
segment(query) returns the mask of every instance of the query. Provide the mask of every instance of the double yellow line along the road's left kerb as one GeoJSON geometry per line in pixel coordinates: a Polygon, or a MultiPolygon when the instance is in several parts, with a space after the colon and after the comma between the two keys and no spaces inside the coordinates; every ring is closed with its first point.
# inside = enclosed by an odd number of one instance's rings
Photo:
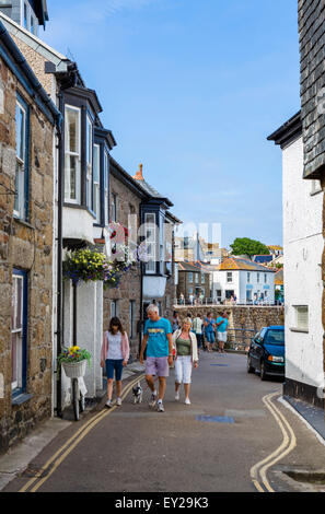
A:
{"type": "MultiPolygon", "coordinates": [[[[144,375],[138,376],[135,381],[126,386],[121,394],[125,399],[134,385],[141,381],[144,375]]],[[[86,423],[84,423],[43,466],[36,477],[32,478],[19,492],[36,492],[46,480],[56,471],[68,455],[81,443],[81,441],[108,414],[114,412],[116,405],[112,409],[98,412],[86,423]],[[35,483],[36,482],[36,483],[35,483]]]]}

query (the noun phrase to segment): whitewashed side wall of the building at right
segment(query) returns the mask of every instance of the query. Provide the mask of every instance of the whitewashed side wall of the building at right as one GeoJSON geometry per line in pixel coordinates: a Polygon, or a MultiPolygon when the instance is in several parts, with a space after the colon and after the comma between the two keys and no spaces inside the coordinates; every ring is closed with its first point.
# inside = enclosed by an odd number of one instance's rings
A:
{"type": "Polygon", "coordinates": [[[302,139],[283,150],[283,248],[287,376],[320,386],[323,375],[323,192],[303,176],[302,139]],[[309,334],[292,331],[294,305],[309,306],[309,334]]]}

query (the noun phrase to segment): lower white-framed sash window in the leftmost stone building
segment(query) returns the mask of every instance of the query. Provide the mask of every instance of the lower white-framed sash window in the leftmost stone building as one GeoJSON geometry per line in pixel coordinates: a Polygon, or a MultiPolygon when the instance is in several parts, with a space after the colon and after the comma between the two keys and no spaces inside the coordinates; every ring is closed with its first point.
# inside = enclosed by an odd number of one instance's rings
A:
{"type": "Polygon", "coordinates": [[[24,296],[26,273],[14,270],[12,277],[11,303],[11,388],[12,392],[24,387],[25,349],[24,338],[26,317],[24,316],[24,296]]]}

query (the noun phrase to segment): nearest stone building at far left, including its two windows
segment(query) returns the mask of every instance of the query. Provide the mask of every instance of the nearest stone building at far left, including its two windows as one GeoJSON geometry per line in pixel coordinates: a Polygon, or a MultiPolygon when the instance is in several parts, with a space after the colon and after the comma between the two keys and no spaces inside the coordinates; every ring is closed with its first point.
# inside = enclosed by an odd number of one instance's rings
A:
{"type": "Polygon", "coordinates": [[[0,22],[0,452],[51,413],[54,142],[61,117],[0,22]]]}

